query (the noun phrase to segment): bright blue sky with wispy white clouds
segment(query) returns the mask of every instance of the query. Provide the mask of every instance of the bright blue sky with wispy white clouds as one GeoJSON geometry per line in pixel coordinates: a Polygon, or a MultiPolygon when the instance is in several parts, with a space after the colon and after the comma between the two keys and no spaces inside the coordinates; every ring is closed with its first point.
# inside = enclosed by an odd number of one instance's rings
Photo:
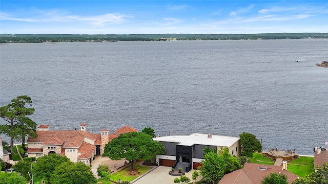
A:
{"type": "Polygon", "coordinates": [[[328,1],[0,1],[0,34],[328,33],[328,1]]]}

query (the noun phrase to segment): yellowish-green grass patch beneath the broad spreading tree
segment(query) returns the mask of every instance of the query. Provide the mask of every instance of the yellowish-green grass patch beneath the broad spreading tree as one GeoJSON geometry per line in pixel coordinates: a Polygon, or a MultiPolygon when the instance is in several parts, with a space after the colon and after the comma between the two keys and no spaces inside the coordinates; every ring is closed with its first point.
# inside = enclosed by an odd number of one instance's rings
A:
{"type": "MultiPolygon", "coordinates": [[[[136,172],[140,172],[141,174],[144,174],[145,172],[147,172],[148,170],[151,169],[151,167],[144,167],[144,166],[139,166],[139,163],[134,163],[133,164],[133,168],[134,169],[138,169],[138,171],[135,171],[136,172]]],[[[110,176],[110,178],[114,181],[118,181],[119,179],[121,179],[122,181],[132,181],[133,179],[139,177],[141,174],[138,174],[138,175],[129,175],[130,173],[130,170],[131,169],[131,166],[125,168],[125,169],[122,169],[120,171],[117,171],[116,173],[114,173],[113,175],[110,176]]]]}

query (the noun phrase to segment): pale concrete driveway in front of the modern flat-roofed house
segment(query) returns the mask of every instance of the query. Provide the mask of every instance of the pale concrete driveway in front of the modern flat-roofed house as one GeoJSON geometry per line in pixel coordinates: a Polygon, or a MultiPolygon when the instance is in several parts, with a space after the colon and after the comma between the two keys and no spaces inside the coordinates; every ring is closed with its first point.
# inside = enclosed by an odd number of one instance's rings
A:
{"type": "MultiPolygon", "coordinates": [[[[164,167],[159,166],[156,169],[150,171],[149,173],[142,175],[135,180],[131,181],[133,184],[174,184],[173,180],[176,177],[180,176],[171,176],[169,175],[169,171],[171,170],[171,167],[164,167]]],[[[186,176],[188,176],[191,181],[192,180],[192,174],[194,170],[189,171],[186,173],[186,176]]],[[[199,171],[198,171],[199,172],[199,171]]],[[[200,180],[200,178],[198,178],[200,180]]],[[[197,180],[197,181],[198,181],[197,180]]]]}

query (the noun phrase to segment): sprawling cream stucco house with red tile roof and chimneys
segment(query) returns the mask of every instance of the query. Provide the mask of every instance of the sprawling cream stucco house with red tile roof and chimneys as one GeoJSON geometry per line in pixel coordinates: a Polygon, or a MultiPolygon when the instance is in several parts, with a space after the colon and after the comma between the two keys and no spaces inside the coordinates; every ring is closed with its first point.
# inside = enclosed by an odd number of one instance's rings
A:
{"type": "Polygon", "coordinates": [[[106,144],[120,134],[137,132],[129,126],[119,128],[115,133],[109,133],[108,129],[100,130],[100,133],[86,131],[87,124],[80,125],[80,130],[49,130],[49,125],[40,125],[36,138],[31,136],[27,140],[28,157],[40,157],[49,153],[67,156],[72,162],[83,162],[90,165],[94,155],[104,153],[106,144]]]}

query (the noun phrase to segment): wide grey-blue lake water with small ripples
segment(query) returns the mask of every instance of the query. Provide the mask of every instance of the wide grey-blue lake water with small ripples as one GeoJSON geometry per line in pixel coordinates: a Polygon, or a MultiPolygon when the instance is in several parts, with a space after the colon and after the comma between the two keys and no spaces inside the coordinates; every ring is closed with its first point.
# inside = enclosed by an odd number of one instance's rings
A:
{"type": "Polygon", "coordinates": [[[327,60],[328,39],[14,43],[0,45],[0,105],[28,95],[51,130],[249,132],[313,154],[328,141],[327,60]]]}

